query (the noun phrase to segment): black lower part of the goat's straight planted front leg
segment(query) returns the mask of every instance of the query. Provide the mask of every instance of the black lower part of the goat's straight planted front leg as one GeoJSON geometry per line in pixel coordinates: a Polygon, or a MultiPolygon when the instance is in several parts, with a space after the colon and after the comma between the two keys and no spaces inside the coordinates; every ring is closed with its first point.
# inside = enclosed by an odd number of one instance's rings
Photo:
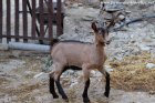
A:
{"type": "Polygon", "coordinates": [[[84,102],[84,103],[91,103],[91,102],[90,102],[90,99],[89,99],[89,96],[87,96],[87,90],[89,90],[89,87],[90,87],[90,79],[85,82],[84,91],[83,91],[83,94],[82,94],[82,96],[83,96],[83,102],[84,102]]]}

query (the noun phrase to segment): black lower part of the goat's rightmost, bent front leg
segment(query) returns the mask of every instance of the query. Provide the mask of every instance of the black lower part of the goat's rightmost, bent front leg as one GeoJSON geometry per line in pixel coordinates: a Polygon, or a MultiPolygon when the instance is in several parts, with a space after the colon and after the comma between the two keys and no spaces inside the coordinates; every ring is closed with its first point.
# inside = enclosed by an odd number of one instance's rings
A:
{"type": "Polygon", "coordinates": [[[111,90],[111,86],[110,86],[110,74],[106,72],[106,84],[105,84],[105,92],[104,92],[104,95],[106,96],[106,97],[108,97],[108,95],[110,95],[110,90],[111,90]]]}

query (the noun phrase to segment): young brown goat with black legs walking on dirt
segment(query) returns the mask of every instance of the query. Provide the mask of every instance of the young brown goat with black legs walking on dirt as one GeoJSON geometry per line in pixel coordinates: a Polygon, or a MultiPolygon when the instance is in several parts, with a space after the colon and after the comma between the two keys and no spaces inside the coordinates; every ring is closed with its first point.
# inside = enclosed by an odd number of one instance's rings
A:
{"type": "Polygon", "coordinates": [[[95,22],[92,23],[92,29],[95,35],[95,43],[62,41],[58,42],[53,47],[51,56],[55,69],[53,69],[50,73],[50,92],[52,93],[53,99],[59,97],[54,90],[55,82],[58,91],[62,95],[62,99],[64,99],[66,102],[69,101],[60,84],[60,76],[68,69],[83,71],[85,87],[82,96],[84,103],[90,103],[87,90],[90,86],[90,71],[93,69],[97,69],[105,76],[106,85],[104,95],[108,97],[110,74],[103,66],[106,60],[104,47],[107,42],[106,38],[108,35],[108,31],[104,28],[97,28],[95,22]]]}

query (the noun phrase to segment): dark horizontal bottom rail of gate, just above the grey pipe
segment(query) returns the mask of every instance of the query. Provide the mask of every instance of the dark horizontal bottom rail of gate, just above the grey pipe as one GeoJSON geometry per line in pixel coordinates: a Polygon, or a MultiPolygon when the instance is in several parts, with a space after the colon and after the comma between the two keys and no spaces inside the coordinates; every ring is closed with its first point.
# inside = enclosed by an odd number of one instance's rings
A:
{"type": "Polygon", "coordinates": [[[31,40],[48,40],[50,41],[51,39],[50,38],[41,38],[41,37],[35,37],[35,38],[32,38],[32,37],[24,37],[24,35],[2,35],[2,38],[12,38],[12,39],[31,39],[31,40]]]}

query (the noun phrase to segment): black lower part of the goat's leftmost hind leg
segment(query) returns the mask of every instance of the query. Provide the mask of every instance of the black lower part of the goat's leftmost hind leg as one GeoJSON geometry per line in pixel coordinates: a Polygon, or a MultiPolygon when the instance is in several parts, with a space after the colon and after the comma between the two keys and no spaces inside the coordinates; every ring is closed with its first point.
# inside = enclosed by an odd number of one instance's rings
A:
{"type": "Polygon", "coordinates": [[[53,99],[58,99],[59,97],[59,95],[56,94],[56,92],[55,92],[55,89],[54,89],[54,79],[53,79],[53,76],[50,76],[50,81],[49,81],[50,83],[50,85],[49,85],[49,87],[50,87],[50,92],[52,93],[52,95],[53,95],[53,99]]]}

